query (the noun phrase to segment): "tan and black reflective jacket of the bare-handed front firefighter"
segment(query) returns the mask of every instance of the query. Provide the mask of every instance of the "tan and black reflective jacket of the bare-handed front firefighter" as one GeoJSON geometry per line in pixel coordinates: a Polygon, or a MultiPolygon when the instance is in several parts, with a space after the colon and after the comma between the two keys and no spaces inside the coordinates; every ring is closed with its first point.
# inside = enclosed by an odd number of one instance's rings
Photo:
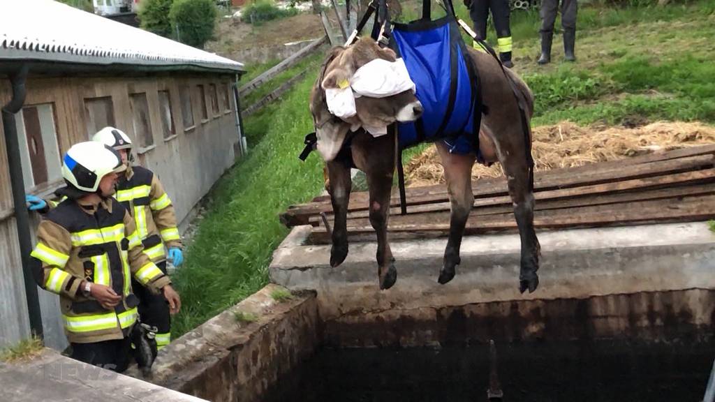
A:
{"type": "Polygon", "coordinates": [[[60,296],[60,310],[70,343],[122,339],[137,320],[139,299],[131,278],[159,293],[171,283],[143,253],[134,220],[114,200],[82,206],[64,200],[40,222],[30,267],[41,288],[60,296]],[[111,287],[122,301],[105,310],[79,289],[82,280],[111,287]]]}

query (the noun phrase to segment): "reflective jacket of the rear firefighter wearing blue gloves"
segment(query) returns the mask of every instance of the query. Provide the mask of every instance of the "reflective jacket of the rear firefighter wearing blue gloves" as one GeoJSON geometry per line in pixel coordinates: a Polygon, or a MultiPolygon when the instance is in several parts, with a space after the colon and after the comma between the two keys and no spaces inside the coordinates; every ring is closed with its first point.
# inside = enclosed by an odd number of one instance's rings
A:
{"type": "Polygon", "coordinates": [[[182,247],[174,205],[154,172],[141,166],[129,167],[119,178],[114,197],[134,217],[144,253],[154,263],[166,259],[164,245],[182,247]]]}

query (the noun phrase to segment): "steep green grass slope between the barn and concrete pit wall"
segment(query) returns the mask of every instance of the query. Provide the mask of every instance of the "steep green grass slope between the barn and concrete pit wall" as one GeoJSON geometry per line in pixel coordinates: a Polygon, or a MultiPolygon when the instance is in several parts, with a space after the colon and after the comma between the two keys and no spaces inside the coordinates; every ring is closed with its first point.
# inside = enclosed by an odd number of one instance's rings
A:
{"type": "Polygon", "coordinates": [[[245,119],[250,153],[215,185],[187,260],[173,275],[183,301],[175,335],[266,285],[272,251],[288,233],[278,215],[320,194],[320,157],[297,157],[312,131],[307,93],[314,80],[310,74],[282,102],[245,119]]]}

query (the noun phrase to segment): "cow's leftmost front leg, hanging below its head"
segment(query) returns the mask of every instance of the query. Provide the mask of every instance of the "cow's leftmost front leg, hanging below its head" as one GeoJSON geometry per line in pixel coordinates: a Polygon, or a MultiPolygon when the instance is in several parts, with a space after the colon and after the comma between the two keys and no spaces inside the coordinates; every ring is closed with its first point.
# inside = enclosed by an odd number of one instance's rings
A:
{"type": "Polygon", "coordinates": [[[328,192],[335,222],[332,227],[330,266],[337,267],[347,257],[347,203],[350,201],[350,167],[342,160],[327,162],[328,192]]]}

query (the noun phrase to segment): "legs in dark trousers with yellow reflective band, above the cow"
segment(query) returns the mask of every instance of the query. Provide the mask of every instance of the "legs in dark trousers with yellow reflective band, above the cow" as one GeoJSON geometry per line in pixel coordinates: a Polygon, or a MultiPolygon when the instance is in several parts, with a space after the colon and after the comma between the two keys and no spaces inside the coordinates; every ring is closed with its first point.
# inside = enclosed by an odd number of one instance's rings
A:
{"type": "MultiPolygon", "coordinates": [[[[487,16],[492,12],[494,28],[497,36],[497,50],[499,59],[504,67],[514,67],[511,62],[511,28],[509,27],[509,1],[508,0],[465,0],[469,9],[469,16],[474,23],[474,31],[481,40],[487,38],[487,16]]],[[[483,51],[482,47],[473,42],[474,49],[483,51]]]]}

